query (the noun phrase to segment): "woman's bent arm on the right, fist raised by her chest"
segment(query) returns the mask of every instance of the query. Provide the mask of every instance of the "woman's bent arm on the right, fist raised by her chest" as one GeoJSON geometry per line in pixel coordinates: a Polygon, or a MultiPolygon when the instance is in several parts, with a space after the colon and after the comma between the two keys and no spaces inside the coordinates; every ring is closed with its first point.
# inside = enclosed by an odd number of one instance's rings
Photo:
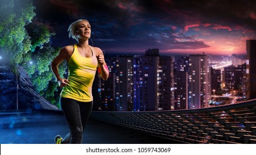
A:
{"type": "Polygon", "coordinates": [[[96,49],[96,54],[97,54],[96,56],[97,56],[98,64],[100,68],[100,76],[103,80],[107,80],[107,78],[109,77],[109,69],[107,69],[103,51],[100,48],[95,48],[95,49],[96,49]]]}

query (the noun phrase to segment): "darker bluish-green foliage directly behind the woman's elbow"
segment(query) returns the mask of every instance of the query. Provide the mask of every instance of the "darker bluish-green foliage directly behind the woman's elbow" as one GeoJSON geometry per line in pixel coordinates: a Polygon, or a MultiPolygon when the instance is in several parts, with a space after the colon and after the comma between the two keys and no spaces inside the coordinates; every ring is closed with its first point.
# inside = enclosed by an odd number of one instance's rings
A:
{"type": "MultiPolygon", "coordinates": [[[[50,43],[45,43],[41,49],[25,54],[28,59],[32,60],[32,63],[24,65],[24,69],[29,74],[35,91],[57,107],[59,107],[58,94],[60,94],[60,90],[58,89],[58,82],[55,80],[50,69],[50,62],[59,53],[59,50],[59,48],[53,48],[50,43]]],[[[65,74],[65,69],[65,63],[59,65],[59,73],[61,75],[65,74]]]]}

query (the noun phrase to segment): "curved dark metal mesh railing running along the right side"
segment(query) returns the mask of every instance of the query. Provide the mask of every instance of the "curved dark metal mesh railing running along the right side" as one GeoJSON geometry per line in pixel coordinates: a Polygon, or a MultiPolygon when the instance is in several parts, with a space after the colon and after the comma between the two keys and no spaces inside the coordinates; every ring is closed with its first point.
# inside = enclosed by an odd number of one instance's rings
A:
{"type": "Polygon", "coordinates": [[[175,111],[93,111],[91,118],[183,143],[256,143],[256,99],[175,111]]]}

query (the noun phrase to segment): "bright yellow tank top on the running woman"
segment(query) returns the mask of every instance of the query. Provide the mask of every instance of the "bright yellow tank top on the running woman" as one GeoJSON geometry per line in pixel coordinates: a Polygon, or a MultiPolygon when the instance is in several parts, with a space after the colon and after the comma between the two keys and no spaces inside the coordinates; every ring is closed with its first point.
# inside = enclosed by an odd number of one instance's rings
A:
{"type": "Polygon", "coordinates": [[[78,47],[76,44],[74,45],[74,52],[68,61],[69,83],[63,88],[60,94],[61,97],[67,97],[81,102],[93,101],[91,89],[98,60],[94,49],[91,46],[90,49],[93,55],[90,58],[86,58],[80,55],[78,47]]]}

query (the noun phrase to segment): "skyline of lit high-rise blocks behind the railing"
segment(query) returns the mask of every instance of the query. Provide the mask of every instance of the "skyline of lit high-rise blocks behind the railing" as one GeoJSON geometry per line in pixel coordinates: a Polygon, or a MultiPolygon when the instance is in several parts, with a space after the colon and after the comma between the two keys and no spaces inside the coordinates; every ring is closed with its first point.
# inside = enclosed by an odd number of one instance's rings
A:
{"type": "Polygon", "coordinates": [[[149,49],[144,55],[117,55],[106,61],[111,76],[106,82],[96,76],[94,110],[202,108],[233,104],[247,94],[245,59],[237,55],[167,56],[149,49]]]}

